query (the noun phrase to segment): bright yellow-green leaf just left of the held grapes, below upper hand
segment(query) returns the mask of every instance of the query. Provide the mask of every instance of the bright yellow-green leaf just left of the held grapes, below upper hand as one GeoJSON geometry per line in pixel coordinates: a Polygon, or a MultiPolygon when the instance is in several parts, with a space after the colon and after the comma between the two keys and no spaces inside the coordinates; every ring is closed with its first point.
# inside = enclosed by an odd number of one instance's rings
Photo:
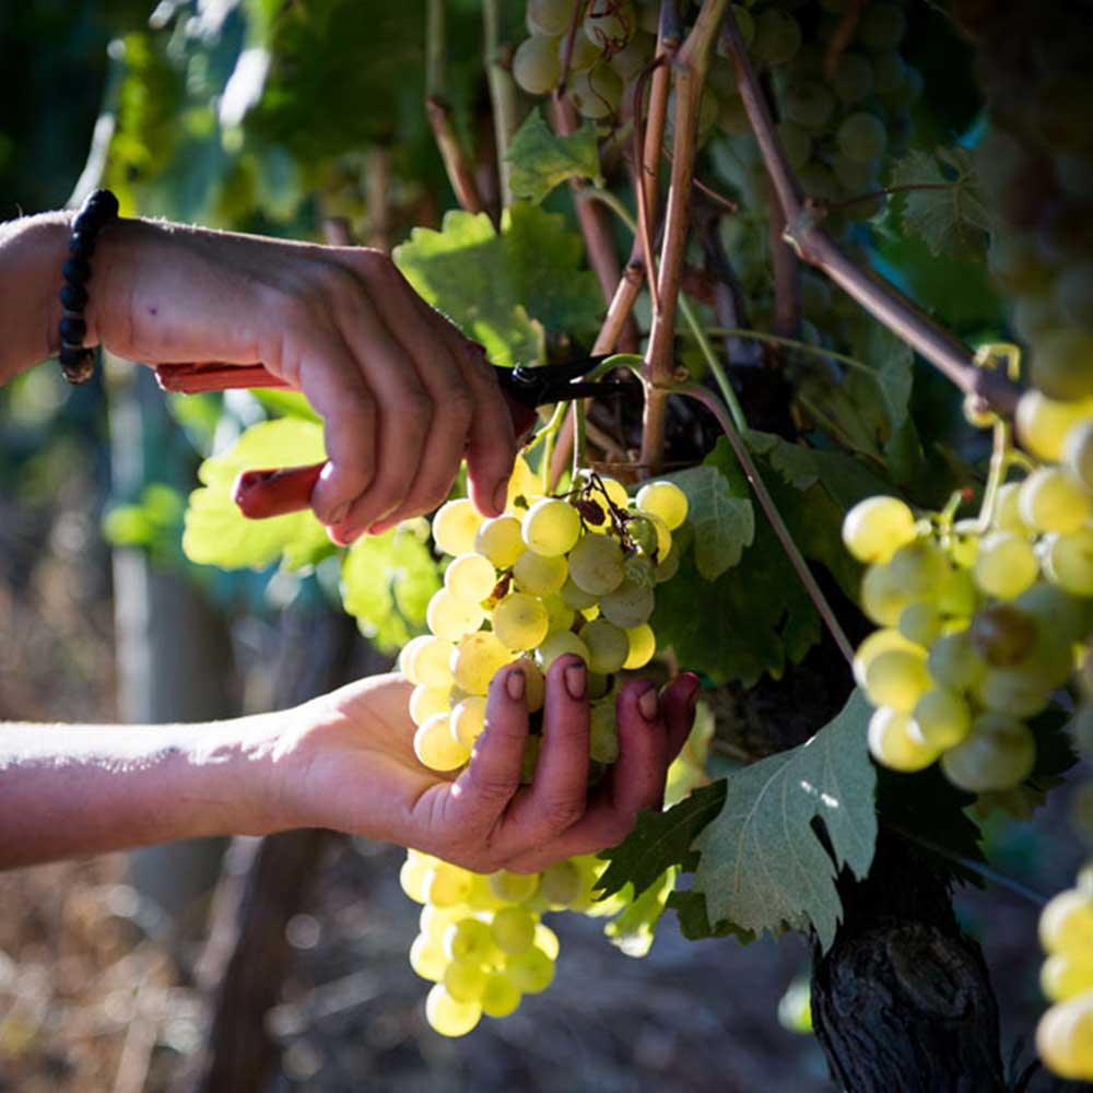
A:
{"type": "Polygon", "coordinates": [[[409,528],[359,539],[342,562],[342,603],[384,651],[423,631],[425,609],[439,587],[436,561],[409,528]]]}

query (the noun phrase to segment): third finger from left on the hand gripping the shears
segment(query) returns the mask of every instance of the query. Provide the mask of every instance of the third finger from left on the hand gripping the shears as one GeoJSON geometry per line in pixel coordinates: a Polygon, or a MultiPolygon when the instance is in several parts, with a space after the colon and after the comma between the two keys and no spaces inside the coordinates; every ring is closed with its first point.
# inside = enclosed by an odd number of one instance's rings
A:
{"type": "Polygon", "coordinates": [[[444,502],[459,471],[474,414],[470,387],[446,339],[439,337],[432,322],[424,320],[422,313],[426,307],[408,284],[404,293],[412,314],[395,329],[413,361],[422,387],[439,412],[434,414],[428,443],[407,496],[393,512],[373,525],[374,534],[400,520],[431,512],[444,502]]]}

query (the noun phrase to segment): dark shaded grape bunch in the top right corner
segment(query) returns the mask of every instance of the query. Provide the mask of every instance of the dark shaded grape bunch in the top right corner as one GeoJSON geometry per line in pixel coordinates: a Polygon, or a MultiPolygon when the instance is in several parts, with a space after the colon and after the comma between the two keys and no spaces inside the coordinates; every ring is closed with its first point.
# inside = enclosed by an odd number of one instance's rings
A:
{"type": "Polygon", "coordinates": [[[987,105],[977,154],[998,222],[990,268],[1015,302],[1035,386],[1060,399],[1093,395],[1089,13],[1035,0],[952,8],[975,42],[987,105]]]}

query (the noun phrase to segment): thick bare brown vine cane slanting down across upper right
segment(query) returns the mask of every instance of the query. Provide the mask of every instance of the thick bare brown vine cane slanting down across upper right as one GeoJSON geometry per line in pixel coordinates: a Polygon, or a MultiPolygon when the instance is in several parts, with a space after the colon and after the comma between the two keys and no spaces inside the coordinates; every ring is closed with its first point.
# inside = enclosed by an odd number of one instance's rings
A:
{"type": "Polygon", "coordinates": [[[920,353],[965,395],[990,409],[1012,414],[1021,388],[999,373],[976,368],[966,345],[938,326],[886,281],[855,266],[816,223],[812,207],[786,158],[774,120],[731,11],[721,26],[721,40],[737,74],[737,86],[759,142],[763,163],[786,219],[785,238],[802,261],[822,270],[883,326],[920,353]]]}

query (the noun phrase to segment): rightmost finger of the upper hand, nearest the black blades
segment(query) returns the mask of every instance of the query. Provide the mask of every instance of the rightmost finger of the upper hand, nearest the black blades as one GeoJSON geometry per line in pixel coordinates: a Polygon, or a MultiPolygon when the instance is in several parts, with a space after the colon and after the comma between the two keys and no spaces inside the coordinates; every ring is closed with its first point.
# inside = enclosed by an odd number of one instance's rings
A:
{"type": "Polygon", "coordinates": [[[481,346],[460,345],[463,375],[474,399],[474,414],[467,438],[467,480],[471,500],[483,516],[505,510],[508,480],[517,443],[508,403],[501,392],[497,372],[481,346]]]}

